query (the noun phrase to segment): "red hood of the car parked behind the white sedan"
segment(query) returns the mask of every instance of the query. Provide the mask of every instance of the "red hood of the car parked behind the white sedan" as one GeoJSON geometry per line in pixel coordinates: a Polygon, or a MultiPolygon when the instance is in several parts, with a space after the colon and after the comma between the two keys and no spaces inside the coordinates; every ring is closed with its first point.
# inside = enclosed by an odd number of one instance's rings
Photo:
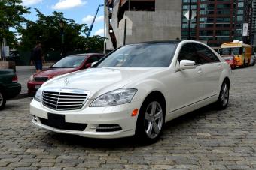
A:
{"type": "Polygon", "coordinates": [[[35,76],[47,76],[47,77],[53,77],[53,76],[59,76],[66,73],[71,73],[75,71],[75,68],[54,68],[54,69],[47,69],[43,70],[40,73],[35,73],[35,76]]]}

